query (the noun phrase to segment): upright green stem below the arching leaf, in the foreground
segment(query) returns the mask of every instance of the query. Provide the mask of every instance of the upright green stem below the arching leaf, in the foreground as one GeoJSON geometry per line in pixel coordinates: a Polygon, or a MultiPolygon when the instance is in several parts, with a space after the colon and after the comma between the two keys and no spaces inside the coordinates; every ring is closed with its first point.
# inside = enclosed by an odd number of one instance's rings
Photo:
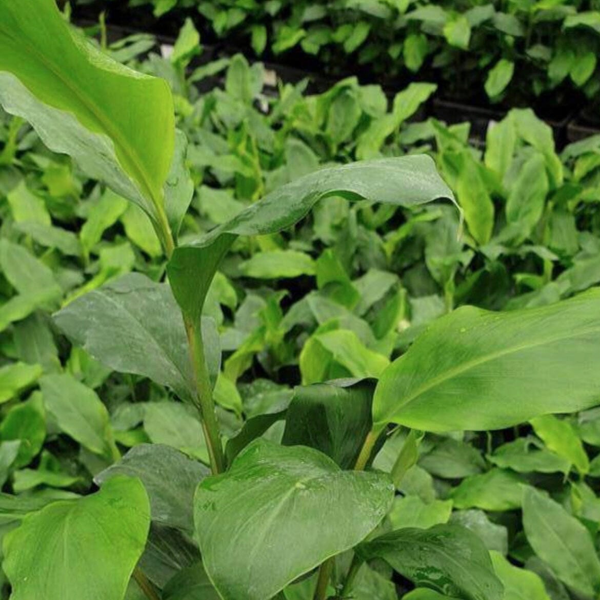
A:
{"type": "Polygon", "coordinates": [[[211,470],[213,475],[222,473],[225,460],[223,457],[223,445],[221,444],[221,430],[215,414],[215,403],[212,398],[211,377],[206,367],[206,358],[204,355],[204,344],[202,342],[202,331],[194,327],[190,322],[185,323],[188,343],[190,344],[190,354],[192,366],[194,369],[194,378],[196,379],[197,409],[202,419],[202,430],[208,447],[208,454],[211,460],[211,470]]]}

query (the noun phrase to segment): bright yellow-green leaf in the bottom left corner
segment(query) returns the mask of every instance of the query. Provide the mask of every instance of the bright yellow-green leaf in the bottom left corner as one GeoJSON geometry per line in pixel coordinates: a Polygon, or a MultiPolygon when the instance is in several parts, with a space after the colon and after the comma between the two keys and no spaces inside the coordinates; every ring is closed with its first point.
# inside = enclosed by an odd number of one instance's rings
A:
{"type": "Polygon", "coordinates": [[[107,482],[92,496],[55,502],[28,515],[4,538],[11,598],[121,600],[149,523],[143,485],[127,478],[107,482]]]}

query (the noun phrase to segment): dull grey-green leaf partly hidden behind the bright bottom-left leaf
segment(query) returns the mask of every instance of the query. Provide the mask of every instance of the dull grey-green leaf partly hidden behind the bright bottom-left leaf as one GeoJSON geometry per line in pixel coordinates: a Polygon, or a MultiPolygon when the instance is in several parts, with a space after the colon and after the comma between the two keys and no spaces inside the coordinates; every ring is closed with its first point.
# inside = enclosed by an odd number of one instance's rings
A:
{"type": "Polygon", "coordinates": [[[174,448],[140,444],[95,476],[98,485],[126,475],[142,481],[150,499],[152,521],[193,532],[194,491],[209,470],[174,448]]]}

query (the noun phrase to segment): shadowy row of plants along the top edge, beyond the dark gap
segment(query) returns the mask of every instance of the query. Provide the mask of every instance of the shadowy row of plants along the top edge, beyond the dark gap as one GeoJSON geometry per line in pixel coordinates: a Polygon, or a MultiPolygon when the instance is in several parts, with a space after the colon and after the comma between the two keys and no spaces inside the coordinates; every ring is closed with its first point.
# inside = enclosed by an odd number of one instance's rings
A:
{"type": "Polygon", "coordinates": [[[189,16],[208,36],[238,40],[256,56],[285,61],[287,53],[306,65],[316,58],[333,73],[363,65],[364,76],[377,73],[392,85],[418,73],[455,98],[527,106],[541,97],[540,109],[555,112],[574,107],[575,98],[598,102],[600,6],[593,0],[136,0],[129,13],[94,4],[126,21],[149,7],[169,22],[189,16]]]}

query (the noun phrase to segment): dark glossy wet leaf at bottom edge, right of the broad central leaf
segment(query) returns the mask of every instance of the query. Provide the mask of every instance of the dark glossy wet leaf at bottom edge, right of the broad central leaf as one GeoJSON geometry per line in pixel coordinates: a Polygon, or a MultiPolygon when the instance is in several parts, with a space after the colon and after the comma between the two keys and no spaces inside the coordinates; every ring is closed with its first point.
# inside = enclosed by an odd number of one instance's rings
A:
{"type": "Polygon", "coordinates": [[[416,586],[465,600],[502,600],[503,587],[490,554],[464,527],[399,529],[358,548],[364,559],[380,558],[416,586]]]}

